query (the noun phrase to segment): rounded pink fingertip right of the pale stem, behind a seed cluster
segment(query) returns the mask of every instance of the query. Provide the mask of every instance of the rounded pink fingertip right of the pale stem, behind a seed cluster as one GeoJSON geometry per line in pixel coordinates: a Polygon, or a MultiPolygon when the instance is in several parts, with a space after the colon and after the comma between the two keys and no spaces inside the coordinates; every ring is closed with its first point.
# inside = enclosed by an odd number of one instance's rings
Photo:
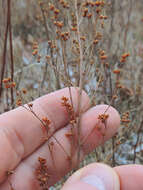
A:
{"type": "Polygon", "coordinates": [[[120,116],[111,106],[97,105],[84,113],[81,125],[83,134],[81,141],[84,143],[83,151],[88,154],[117,132],[120,126],[120,116]],[[104,115],[105,111],[108,119],[102,122],[99,116],[104,115]]]}

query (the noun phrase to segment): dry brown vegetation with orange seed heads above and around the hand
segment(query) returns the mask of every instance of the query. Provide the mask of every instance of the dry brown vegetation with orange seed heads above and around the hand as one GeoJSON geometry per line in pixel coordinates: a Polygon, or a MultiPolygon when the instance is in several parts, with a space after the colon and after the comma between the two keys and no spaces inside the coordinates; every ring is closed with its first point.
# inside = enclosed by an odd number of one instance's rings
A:
{"type": "Polygon", "coordinates": [[[92,105],[122,118],[82,165],[142,163],[142,26],[142,0],[1,0],[0,112],[82,81],[92,105]]]}

